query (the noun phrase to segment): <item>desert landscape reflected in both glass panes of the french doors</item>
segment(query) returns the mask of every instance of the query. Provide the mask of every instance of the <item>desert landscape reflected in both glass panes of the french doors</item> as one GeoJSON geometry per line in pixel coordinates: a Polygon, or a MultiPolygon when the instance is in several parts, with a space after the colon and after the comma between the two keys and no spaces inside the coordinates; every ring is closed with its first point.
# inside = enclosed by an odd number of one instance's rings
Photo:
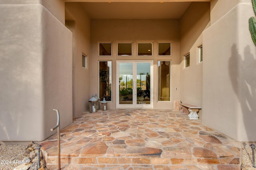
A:
{"type": "MultiPolygon", "coordinates": [[[[132,70],[132,63],[120,63],[119,65],[120,104],[132,104],[132,70]]],[[[136,79],[137,104],[150,104],[150,63],[137,63],[136,79]]]]}

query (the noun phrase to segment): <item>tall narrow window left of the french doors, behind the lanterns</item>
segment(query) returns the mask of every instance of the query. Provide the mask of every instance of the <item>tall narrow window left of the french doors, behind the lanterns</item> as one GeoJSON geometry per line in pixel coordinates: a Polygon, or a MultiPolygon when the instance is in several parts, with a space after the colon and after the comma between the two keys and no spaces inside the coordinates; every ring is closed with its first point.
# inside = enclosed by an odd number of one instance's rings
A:
{"type": "Polygon", "coordinates": [[[112,61],[99,61],[99,97],[112,101],[112,61]]]}

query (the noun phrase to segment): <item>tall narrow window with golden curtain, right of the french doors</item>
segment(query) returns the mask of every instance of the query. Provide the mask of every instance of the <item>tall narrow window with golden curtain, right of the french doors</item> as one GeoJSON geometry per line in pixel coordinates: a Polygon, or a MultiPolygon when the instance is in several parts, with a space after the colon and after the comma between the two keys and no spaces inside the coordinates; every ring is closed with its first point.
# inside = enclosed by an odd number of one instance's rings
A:
{"type": "Polygon", "coordinates": [[[171,61],[158,61],[158,102],[171,101],[171,61]]]}

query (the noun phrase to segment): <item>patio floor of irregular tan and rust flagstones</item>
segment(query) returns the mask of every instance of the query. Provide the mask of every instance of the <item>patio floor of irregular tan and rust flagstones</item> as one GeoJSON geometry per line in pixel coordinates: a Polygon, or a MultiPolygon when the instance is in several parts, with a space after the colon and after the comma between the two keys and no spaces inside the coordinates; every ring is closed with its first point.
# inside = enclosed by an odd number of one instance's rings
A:
{"type": "MultiPolygon", "coordinates": [[[[60,135],[64,170],[240,170],[240,142],[179,111],[85,112],[60,135]]],[[[57,134],[41,145],[47,167],[58,169],[57,134]]]]}

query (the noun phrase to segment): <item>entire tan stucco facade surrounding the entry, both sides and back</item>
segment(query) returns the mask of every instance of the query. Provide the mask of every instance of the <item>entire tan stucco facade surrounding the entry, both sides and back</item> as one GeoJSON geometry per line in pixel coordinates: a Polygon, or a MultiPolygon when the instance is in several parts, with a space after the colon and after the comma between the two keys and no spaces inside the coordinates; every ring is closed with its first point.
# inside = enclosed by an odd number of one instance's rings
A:
{"type": "Polygon", "coordinates": [[[153,61],[153,109],[173,109],[181,100],[202,107],[198,115],[205,125],[238,141],[256,141],[250,0],[193,1],[176,19],[92,19],[80,2],[0,1],[0,141],[42,141],[56,133],[50,131],[56,124],[52,109],[60,111],[61,128],[72,123],[99,93],[99,61],[112,61],[108,108],[115,109],[119,60],[153,61]],[[104,42],[112,43],[112,56],[98,56],[104,42]],[[137,43],[144,42],[153,43],[152,56],[137,56],[137,43]],[[158,42],[170,42],[172,55],[158,56],[158,42]],[[117,56],[117,43],[132,43],[133,55],[117,56]],[[188,53],[190,66],[184,68],[188,53]],[[172,62],[170,102],[157,100],[158,61],[172,62]]]}

